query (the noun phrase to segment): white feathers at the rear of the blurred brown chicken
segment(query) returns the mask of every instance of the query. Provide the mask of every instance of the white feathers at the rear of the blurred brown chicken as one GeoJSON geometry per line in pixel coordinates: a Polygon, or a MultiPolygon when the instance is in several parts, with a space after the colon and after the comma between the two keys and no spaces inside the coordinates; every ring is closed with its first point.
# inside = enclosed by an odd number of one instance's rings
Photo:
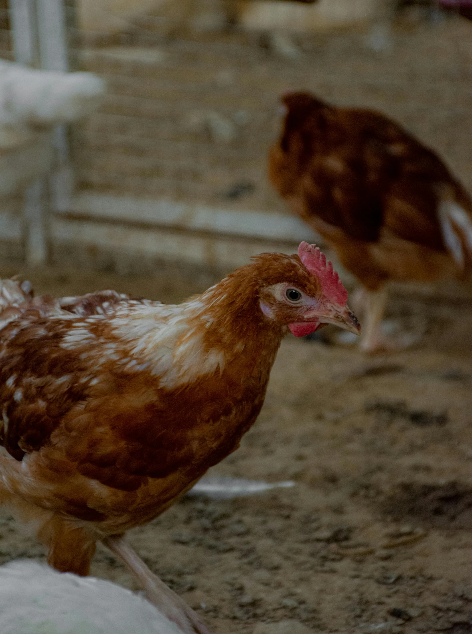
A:
{"type": "Polygon", "coordinates": [[[444,243],[457,268],[464,271],[472,260],[472,219],[455,200],[441,200],[438,207],[444,243]]]}

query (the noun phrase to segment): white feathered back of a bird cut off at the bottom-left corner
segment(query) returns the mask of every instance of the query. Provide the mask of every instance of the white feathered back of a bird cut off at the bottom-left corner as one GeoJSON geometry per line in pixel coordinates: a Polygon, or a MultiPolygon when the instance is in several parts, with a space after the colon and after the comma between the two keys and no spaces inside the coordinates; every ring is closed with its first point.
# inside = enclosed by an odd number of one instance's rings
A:
{"type": "Polygon", "coordinates": [[[0,566],[1,634],[183,634],[145,599],[111,581],[32,560],[0,566]]]}

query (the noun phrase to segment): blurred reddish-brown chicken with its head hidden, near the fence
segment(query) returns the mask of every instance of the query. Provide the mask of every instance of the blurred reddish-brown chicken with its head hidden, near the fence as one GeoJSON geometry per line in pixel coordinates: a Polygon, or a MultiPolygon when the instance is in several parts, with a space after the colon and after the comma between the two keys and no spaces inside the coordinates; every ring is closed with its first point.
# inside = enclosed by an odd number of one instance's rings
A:
{"type": "Polygon", "coordinates": [[[362,284],[362,349],[392,347],[381,336],[388,281],[463,278],[472,266],[472,200],[434,152],[380,113],[309,93],[283,103],[270,180],[362,284]]]}

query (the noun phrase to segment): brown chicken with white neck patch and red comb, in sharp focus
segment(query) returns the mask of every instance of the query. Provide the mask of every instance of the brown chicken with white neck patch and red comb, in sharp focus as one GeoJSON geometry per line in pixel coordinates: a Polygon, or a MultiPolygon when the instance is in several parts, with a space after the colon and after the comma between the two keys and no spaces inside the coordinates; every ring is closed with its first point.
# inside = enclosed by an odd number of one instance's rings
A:
{"type": "Polygon", "coordinates": [[[178,306],[104,291],[0,292],[0,502],[59,571],[89,572],[103,540],[185,632],[199,617],[122,539],[239,446],[289,330],[358,333],[337,273],[314,245],[254,257],[178,306]]]}

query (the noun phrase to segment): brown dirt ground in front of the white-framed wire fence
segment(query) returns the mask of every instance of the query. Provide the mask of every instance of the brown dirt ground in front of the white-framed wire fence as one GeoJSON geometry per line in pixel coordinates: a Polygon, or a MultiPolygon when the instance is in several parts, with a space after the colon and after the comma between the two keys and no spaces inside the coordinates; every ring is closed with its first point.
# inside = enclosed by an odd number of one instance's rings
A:
{"type": "MultiPolygon", "coordinates": [[[[61,295],[113,287],[180,301],[200,290],[26,273],[61,295]]],[[[284,634],[305,631],[297,622],[325,633],[472,632],[469,313],[456,307],[390,356],[287,337],[258,422],[214,472],[295,486],[187,497],[130,531],[133,546],[216,633],[279,634],[273,623],[286,619],[284,634]]],[[[0,562],[43,559],[5,513],[0,537],[0,562]]],[[[92,574],[138,589],[102,547],[92,574]]]]}

